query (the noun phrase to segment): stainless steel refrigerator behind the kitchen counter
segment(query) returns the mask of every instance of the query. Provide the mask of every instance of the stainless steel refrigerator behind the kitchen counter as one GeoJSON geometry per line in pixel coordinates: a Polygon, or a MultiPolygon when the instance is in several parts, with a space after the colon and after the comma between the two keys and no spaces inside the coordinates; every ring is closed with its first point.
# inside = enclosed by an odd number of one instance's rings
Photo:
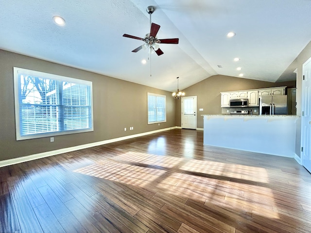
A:
{"type": "Polygon", "coordinates": [[[285,96],[262,96],[259,104],[260,115],[286,115],[287,95],[285,96]]]}

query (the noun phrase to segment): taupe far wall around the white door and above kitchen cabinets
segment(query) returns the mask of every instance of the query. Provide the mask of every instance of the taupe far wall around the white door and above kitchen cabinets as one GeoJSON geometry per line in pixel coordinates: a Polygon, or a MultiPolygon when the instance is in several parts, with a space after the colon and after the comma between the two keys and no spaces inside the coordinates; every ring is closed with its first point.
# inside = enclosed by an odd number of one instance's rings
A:
{"type": "MultiPolygon", "coordinates": [[[[295,81],[270,83],[251,79],[236,78],[224,75],[215,75],[199,83],[196,83],[185,90],[186,96],[197,96],[197,128],[203,128],[203,117],[205,114],[222,114],[221,94],[223,91],[248,90],[265,87],[288,86],[295,87],[295,81]]],[[[177,100],[178,101],[178,100],[177,100]]],[[[176,125],[181,126],[181,101],[176,106],[176,125]]]]}

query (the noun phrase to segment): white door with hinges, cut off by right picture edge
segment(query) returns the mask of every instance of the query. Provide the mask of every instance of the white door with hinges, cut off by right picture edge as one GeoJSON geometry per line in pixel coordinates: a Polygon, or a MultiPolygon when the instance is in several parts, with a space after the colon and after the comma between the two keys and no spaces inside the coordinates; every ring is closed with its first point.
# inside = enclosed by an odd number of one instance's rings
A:
{"type": "Polygon", "coordinates": [[[302,165],[311,172],[311,58],[302,68],[302,165]]]}

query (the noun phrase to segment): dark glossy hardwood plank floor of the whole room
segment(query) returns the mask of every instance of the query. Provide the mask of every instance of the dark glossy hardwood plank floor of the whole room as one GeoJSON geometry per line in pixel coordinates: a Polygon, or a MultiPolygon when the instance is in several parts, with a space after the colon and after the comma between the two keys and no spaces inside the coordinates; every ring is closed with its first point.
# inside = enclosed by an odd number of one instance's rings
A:
{"type": "Polygon", "coordinates": [[[0,233],[310,233],[293,158],[170,130],[0,168],[0,233]]]}

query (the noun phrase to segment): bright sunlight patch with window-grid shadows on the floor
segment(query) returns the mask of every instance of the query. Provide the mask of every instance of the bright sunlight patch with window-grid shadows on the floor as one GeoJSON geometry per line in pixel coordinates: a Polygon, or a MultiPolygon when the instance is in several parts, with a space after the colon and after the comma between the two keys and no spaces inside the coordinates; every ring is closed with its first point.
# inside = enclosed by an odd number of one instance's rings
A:
{"type": "Polygon", "coordinates": [[[278,218],[262,167],[128,152],[74,172],[278,218]]]}

